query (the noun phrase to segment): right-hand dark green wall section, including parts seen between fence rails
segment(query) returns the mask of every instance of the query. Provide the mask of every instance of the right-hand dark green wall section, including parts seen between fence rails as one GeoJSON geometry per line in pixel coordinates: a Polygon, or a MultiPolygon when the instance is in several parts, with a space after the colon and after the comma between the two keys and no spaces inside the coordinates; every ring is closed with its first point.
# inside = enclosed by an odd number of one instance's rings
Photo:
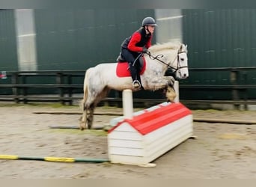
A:
{"type": "MultiPolygon", "coordinates": [[[[189,67],[251,67],[256,61],[256,10],[183,10],[183,40],[189,67]]],[[[249,71],[246,83],[255,84],[249,71]]],[[[240,75],[238,82],[245,82],[240,75]]],[[[230,85],[228,72],[190,72],[181,83],[230,85]]],[[[183,99],[231,99],[231,91],[191,91],[183,99]]],[[[251,91],[249,97],[255,97],[251,91]]]]}

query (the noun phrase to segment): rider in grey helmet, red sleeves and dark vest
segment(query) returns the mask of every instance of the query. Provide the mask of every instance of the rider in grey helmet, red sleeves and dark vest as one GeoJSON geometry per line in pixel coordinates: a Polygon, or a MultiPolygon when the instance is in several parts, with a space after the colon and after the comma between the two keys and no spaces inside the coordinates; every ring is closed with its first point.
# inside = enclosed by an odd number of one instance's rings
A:
{"type": "Polygon", "coordinates": [[[141,28],[135,31],[132,36],[127,37],[121,44],[121,57],[129,63],[129,70],[132,76],[133,88],[141,88],[141,78],[138,72],[139,63],[137,60],[141,52],[148,53],[148,48],[151,46],[153,31],[156,26],[156,21],[152,17],[145,17],[142,20],[141,28]]]}

